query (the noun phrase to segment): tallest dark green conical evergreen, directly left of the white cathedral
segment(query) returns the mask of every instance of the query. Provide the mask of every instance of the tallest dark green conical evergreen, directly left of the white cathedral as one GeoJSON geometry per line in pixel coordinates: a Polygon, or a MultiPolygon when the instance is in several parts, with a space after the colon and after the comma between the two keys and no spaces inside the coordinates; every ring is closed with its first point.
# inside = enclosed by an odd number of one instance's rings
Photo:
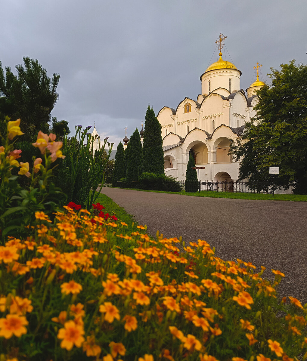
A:
{"type": "Polygon", "coordinates": [[[161,124],[148,105],[145,116],[143,157],[140,174],[143,172],[164,174],[164,153],[162,148],[161,124]]]}

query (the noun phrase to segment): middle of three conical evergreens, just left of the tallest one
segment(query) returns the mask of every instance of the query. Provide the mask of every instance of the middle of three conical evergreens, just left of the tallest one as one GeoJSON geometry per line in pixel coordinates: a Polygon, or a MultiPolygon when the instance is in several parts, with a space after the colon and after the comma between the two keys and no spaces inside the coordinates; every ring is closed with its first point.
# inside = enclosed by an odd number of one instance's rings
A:
{"type": "Polygon", "coordinates": [[[130,187],[133,181],[139,180],[139,167],[142,159],[142,143],[138,129],[130,137],[130,150],[127,154],[126,183],[130,187]]]}

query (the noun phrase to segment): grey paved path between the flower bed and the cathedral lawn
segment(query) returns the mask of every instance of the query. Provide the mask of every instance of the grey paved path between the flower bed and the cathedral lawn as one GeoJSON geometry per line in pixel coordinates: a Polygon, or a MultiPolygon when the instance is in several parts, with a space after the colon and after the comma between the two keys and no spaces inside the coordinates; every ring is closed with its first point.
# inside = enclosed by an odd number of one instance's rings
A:
{"type": "Polygon", "coordinates": [[[278,269],[282,296],[307,302],[307,202],[191,197],[104,187],[101,191],[146,224],[148,233],[206,240],[224,260],[278,269]]]}

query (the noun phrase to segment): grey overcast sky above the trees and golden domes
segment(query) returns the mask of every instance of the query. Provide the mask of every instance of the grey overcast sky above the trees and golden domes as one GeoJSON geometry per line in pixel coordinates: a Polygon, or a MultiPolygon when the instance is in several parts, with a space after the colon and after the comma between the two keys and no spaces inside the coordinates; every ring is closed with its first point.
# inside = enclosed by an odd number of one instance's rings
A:
{"type": "Polygon", "coordinates": [[[125,126],[128,137],[140,130],[148,104],[157,114],[196,99],[220,32],[244,90],[257,61],[269,83],[270,67],[307,57],[306,0],[0,0],[0,13],[2,65],[29,56],[59,73],[52,116],[72,133],[96,121],[115,146],[125,126]]]}

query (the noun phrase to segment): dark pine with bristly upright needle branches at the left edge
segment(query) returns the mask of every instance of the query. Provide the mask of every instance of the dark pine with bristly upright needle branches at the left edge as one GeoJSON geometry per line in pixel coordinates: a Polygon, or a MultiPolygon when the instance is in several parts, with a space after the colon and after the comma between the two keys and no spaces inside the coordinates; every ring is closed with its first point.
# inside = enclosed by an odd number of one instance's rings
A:
{"type": "Polygon", "coordinates": [[[23,57],[23,65],[16,65],[17,75],[9,67],[5,71],[0,62],[0,118],[21,118],[25,133],[21,140],[32,140],[38,130],[48,131],[50,113],[59,94],[56,88],[60,75],[47,76],[47,70],[37,59],[23,57]]]}

